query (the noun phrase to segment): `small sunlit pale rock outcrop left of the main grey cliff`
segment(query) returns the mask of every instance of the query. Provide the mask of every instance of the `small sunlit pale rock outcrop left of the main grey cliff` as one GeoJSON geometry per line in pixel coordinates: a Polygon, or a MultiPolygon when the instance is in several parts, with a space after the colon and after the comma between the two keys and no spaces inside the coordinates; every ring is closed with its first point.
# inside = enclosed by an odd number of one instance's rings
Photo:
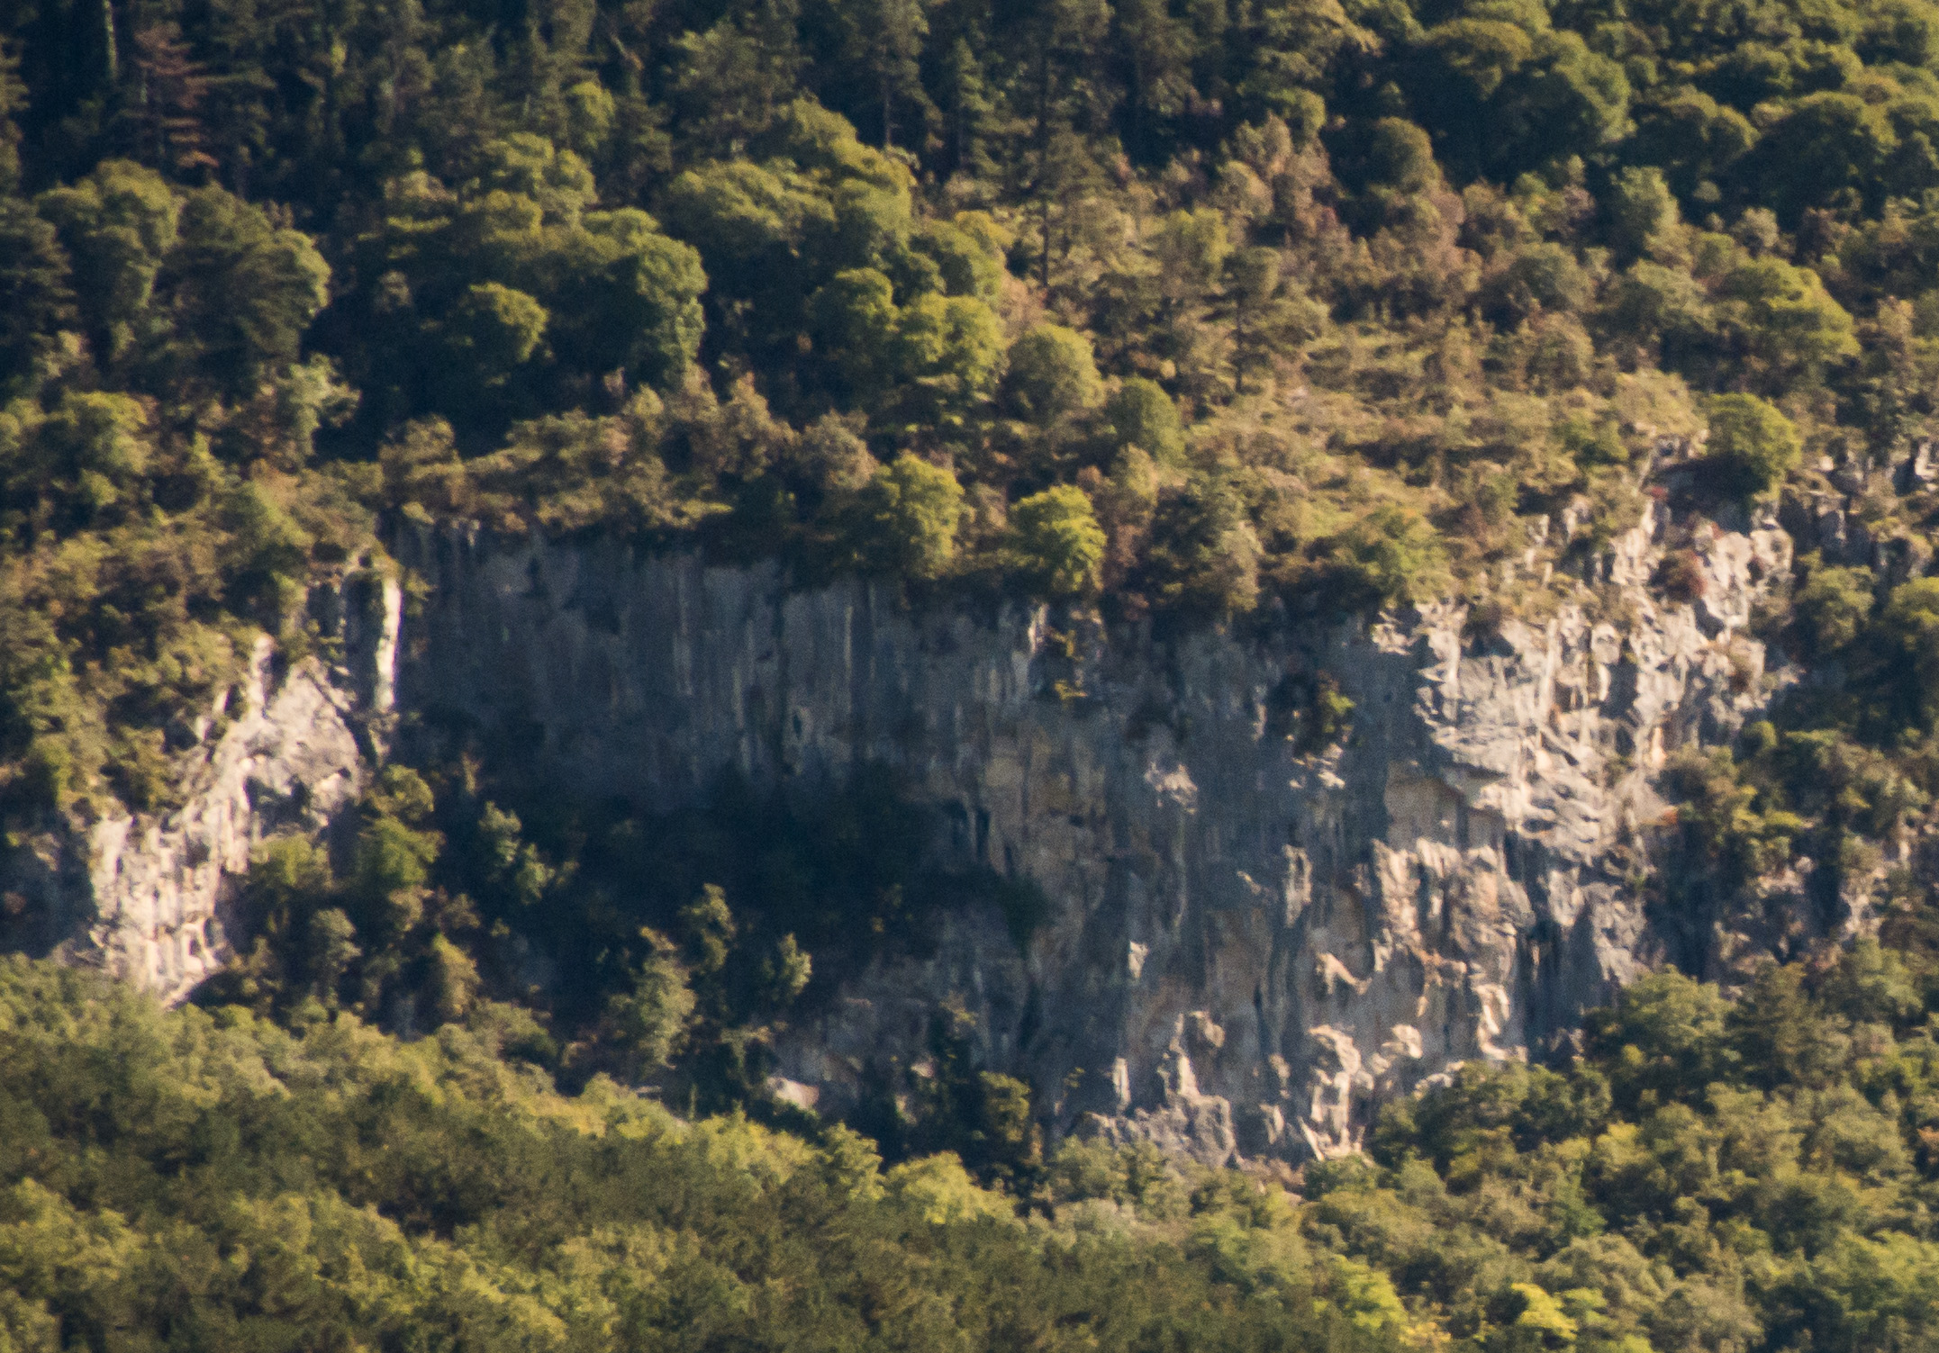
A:
{"type": "Polygon", "coordinates": [[[0,948],[60,956],[184,998],[229,958],[223,913],[250,851],[322,832],[349,802],[382,729],[401,591],[353,574],[310,597],[337,661],[279,671],[268,640],[244,678],[175,740],[184,802],[52,830],[0,876],[0,948]]]}

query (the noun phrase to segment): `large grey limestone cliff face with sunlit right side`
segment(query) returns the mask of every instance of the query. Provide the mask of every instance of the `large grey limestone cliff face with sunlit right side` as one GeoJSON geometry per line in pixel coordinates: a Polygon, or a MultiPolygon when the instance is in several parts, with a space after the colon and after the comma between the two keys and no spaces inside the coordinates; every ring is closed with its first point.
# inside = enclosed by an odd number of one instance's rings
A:
{"type": "Polygon", "coordinates": [[[417,715],[514,731],[562,785],[642,806],[729,768],[812,787],[886,764],[942,855],[1043,890],[1022,950],[958,913],[793,1027],[778,1086],[822,1109],[921,1074],[956,1010],[1059,1132],[1336,1153],[1381,1099],[1540,1053],[1666,958],[1764,942],[1654,915],[1642,880],[1652,771],[1768,700],[1747,622],[1790,564],[1776,529],[1646,519],[1594,566],[1605,614],[1479,640],[1429,609],[1156,642],[613,543],[423,531],[397,554],[429,585],[397,676],[417,715]],[[1646,585],[1671,533],[1695,603],[1646,585]],[[1340,737],[1313,735],[1326,682],[1353,702],[1340,737]]]}

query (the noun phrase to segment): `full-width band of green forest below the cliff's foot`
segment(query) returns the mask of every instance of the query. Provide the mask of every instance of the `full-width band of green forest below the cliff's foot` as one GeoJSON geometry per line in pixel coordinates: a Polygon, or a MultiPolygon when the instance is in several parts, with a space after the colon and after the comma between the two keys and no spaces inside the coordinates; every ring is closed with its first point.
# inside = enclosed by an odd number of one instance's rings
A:
{"type": "Polygon", "coordinates": [[[0,960],[0,1347],[1927,1349],[1939,967],[1650,977],[1563,1072],[1468,1066],[1371,1159],[1065,1142],[987,1188],[842,1126],[562,1097],[514,1006],[163,1014],[0,960]]]}

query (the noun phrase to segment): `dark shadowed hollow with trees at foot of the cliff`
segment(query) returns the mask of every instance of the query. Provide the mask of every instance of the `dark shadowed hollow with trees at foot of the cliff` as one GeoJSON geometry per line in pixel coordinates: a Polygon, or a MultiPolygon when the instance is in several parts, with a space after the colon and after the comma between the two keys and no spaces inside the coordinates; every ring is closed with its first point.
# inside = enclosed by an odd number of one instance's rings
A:
{"type": "Polygon", "coordinates": [[[970,907],[1024,944],[1049,909],[878,766],[814,795],[723,775],[675,812],[576,799],[531,766],[390,766],[332,845],[271,843],[233,907],[238,960],[198,1002],[407,1037],[485,1022],[568,1087],[611,1074],[696,1113],[779,1113],[776,1035],[869,963],[933,956],[970,907]]]}

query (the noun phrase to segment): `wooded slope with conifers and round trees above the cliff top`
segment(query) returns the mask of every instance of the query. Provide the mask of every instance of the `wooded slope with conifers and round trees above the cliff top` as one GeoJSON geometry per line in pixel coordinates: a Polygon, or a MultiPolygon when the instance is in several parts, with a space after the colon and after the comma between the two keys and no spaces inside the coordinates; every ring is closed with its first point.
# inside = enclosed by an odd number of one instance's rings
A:
{"type": "MultiPolygon", "coordinates": [[[[1499,622],[1666,438],[1722,506],[1931,417],[1922,0],[19,0],[0,52],[10,830],[167,806],[397,516],[1499,622]]],[[[1796,582],[1794,649],[1933,661],[1906,578],[1796,582]]]]}

